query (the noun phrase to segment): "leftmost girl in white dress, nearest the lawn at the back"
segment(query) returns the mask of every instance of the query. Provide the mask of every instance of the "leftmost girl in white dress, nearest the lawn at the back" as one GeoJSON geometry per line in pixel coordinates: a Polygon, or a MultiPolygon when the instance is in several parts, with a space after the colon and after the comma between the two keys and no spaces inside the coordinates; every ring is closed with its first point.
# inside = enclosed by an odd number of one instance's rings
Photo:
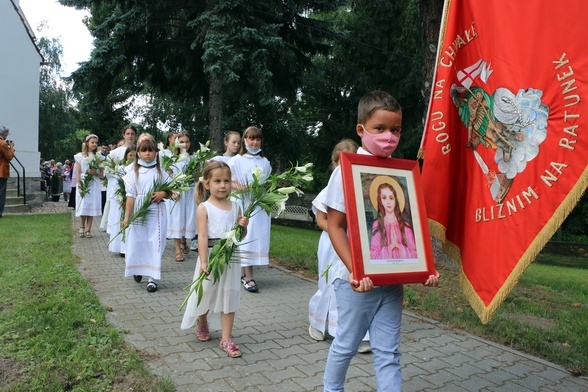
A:
{"type": "Polygon", "coordinates": [[[104,169],[90,169],[88,160],[94,159],[98,153],[98,136],[92,134],[86,136],[82,144],[82,152],[76,154],[76,217],[80,217],[80,237],[92,238],[92,223],[95,216],[102,215],[102,193],[101,181],[104,178],[104,169]],[[90,174],[92,179],[89,185],[88,193],[82,197],[80,194],[80,182],[86,174],[90,174]]]}

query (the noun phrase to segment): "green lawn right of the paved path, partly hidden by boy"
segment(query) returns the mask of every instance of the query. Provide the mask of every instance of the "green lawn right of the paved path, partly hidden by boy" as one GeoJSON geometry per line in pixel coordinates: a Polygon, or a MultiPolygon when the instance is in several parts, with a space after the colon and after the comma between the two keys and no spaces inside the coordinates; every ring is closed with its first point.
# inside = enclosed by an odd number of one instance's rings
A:
{"type": "MultiPolygon", "coordinates": [[[[310,266],[309,275],[316,278],[314,244],[319,236],[317,231],[273,225],[274,262],[310,266]]],[[[558,255],[541,255],[537,261],[487,325],[462,294],[453,266],[437,266],[437,289],[406,285],[405,309],[557,363],[574,375],[588,374],[588,261],[558,255]]]]}

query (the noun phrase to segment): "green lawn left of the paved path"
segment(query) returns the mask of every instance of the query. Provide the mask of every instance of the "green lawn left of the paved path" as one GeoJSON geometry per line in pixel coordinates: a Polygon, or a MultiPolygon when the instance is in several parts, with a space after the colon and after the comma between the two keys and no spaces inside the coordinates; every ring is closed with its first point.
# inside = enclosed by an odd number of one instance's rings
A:
{"type": "Polygon", "coordinates": [[[76,269],[70,214],[5,216],[0,238],[0,390],[174,390],[105,321],[76,269]]]}

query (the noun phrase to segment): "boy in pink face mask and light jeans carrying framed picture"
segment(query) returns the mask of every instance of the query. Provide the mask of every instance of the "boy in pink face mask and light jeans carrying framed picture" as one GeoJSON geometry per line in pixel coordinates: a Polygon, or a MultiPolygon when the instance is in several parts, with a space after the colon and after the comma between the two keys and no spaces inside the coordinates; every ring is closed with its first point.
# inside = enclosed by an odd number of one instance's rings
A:
{"type": "MultiPolygon", "coordinates": [[[[402,109],[398,102],[387,92],[372,91],[360,99],[357,117],[356,132],[361,138],[358,154],[390,157],[402,131],[402,109]]],[[[378,391],[401,391],[399,348],[403,286],[375,287],[369,277],[360,281],[354,278],[340,167],[331,174],[324,204],[329,238],[345,266],[333,276],[338,329],[329,348],[324,390],[343,391],[349,363],[369,331],[378,391]]],[[[424,284],[437,286],[439,274],[430,275],[424,284]]]]}

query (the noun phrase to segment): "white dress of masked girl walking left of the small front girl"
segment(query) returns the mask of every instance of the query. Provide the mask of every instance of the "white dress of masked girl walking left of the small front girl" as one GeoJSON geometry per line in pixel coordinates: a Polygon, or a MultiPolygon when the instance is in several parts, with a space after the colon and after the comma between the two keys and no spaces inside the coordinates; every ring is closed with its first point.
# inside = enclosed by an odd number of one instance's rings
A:
{"type": "MultiPolygon", "coordinates": [[[[157,167],[139,167],[139,176],[135,170],[123,177],[127,197],[135,198],[135,211],[143,203],[153,183],[168,182],[171,179],[157,167]]],[[[139,222],[129,226],[126,236],[125,277],[133,275],[150,276],[161,279],[161,257],[165,250],[165,233],[167,211],[165,203],[151,203],[150,213],[141,225],[139,222]]]]}

